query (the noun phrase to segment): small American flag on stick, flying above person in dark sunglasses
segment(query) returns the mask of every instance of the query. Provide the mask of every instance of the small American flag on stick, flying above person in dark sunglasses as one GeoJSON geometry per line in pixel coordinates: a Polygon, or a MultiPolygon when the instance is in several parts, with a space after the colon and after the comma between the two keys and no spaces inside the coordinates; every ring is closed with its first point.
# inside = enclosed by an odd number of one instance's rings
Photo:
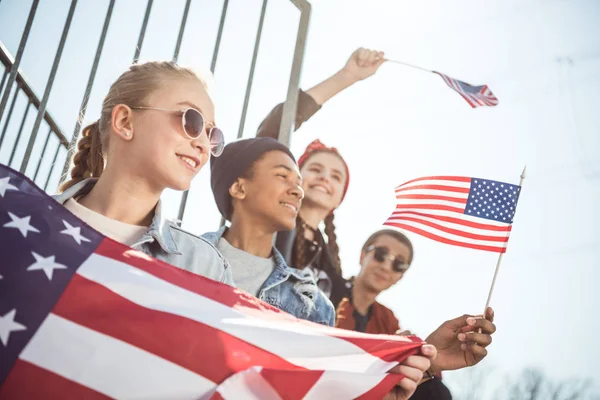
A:
{"type": "Polygon", "coordinates": [[[384,225],[439,242],[506,252],[521,187],[489,179],[428,176],[396,188],[384,225]]]}

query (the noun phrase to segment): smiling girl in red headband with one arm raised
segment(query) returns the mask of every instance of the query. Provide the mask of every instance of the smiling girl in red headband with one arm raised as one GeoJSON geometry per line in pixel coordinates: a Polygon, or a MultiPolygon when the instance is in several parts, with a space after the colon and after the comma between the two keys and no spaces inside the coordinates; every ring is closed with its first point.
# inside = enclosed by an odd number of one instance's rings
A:
{"type": "MultiPolygon", "coordinates": [[[[375,74],[384,62],[383,52],[360,48],[340,71],[306,92],[300,90],[295,129],[333,96],[375,74]]],[[[276,139],[282,112],[283,104],[277,105],[260,125],[257,136],[276,139]]],[[[348,296],[349,286],[342,276],[334,211],[348,190],[349,168],[335,147],[328,147],[319,140],[306,148],[298,158],[298,165],[305,198],[296,228],[279,232],[275,245],[289,265],[310,269],[319,288],[337,305],[348,296]],[[323,231],[319,228],[321,225],[323,231]]]]}

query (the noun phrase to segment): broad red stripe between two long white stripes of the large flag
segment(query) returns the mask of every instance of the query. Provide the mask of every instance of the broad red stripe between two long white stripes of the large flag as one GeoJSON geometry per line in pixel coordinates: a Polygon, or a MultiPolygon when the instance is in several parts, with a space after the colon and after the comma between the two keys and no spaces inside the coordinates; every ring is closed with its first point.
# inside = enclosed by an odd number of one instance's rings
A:
{"type": "Polygon", "coordinates": [[[257,364],[301,369],[211,326],[139,306],[77,274],[52,312],[146,350],[213,382],[221,382],[232,373],[257,364]],[[208,363],[206,360],[212,361],[208,363]]]}

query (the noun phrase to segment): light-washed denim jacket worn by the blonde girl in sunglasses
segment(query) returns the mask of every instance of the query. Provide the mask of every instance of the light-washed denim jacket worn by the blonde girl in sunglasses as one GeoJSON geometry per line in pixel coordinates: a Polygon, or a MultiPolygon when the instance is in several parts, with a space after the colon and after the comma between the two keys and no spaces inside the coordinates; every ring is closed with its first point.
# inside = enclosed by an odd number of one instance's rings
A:
{"type": "MultiPolygon", "coordinates": [[[[64,204],[72,197],[88,193],[95,184],[95,178],[85,179],[53,197],[64,204]]],[[[206,239],[192,235],[163,218],[160,200],[150,227],[131,247],[181,269],[233,286],[228,261],[206,239]]]]}

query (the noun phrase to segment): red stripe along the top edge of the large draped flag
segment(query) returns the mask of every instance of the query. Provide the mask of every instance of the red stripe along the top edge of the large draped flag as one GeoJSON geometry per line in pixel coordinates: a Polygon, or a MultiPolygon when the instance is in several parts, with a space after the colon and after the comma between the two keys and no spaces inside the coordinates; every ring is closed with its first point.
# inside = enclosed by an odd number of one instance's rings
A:
{"type": "MultiPolygon", "coordinates": [[[[241,292],[225,284],[208,278],[200,277],[189,271],[180,270],[163,263],[162,261],[155,259],[150,260],[146,258],[147,256],[145,255],[138,257],[136,256],[136,254],[139,254],[138,252],[135,252],[130,248],[121,245],[120,243],[116,243],[110,239],[103,240],[96,249],[96,253],[112,258],[113,260],[127,263],[159,279],[172,283],[173,285],[177,285],[181,288],[187,289],[193,293],[199,294],[234,309],[240,309],[241,312],[246,314],[249,312],[249,310],[256,310],[256,312],[262,317],[268,316],[268,318],[271,320],[280,319],[293,321],[297,324],[314,325],[312,322],[299,320],[284,311],[258,300],[256,297],[250,294],[241,292]]],[[[371,335],[369,336],[369,339],[366,339],[361,337],[364,335],[361,335],[360,333],[337,329],[331,329],[329,332],[327,332],[327,334],[329,336],[350,342],[365,352],[368,352],[375,357],[379,357],[384,361],[397,361],[401,359],[398,357],[401,357],[403,354],[402,351],[411,351],[412,346],[420,346],[419,342],[416,344],[403,344],[401,347],[397,340],[386,340],[382,343],[381,338],[377,336],[371,335]]]]}

